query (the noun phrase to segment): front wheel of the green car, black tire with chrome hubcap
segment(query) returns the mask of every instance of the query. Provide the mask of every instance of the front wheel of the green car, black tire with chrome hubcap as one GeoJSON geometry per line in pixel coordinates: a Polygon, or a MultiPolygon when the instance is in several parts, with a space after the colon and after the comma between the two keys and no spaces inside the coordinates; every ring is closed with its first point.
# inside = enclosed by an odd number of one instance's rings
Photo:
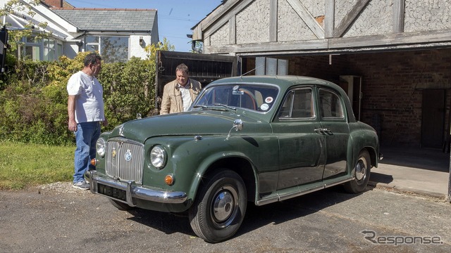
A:
{"type": "Polygon", "coordinates": [[[246,186],[241,177],[234,171],[221,171],[199,189],[189,211],[191,228],[206,242],[227,240],[240,228],[246,207],[246,186]]]}

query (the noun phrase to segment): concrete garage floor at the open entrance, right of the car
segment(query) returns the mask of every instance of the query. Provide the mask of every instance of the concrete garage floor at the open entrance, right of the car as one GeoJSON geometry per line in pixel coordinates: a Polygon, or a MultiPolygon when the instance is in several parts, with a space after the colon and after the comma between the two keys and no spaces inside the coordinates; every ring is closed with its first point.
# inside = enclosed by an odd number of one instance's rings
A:
{"type": "Polygon", "coordinates": [[[371,171],[370,185],[445,199],[450,154],[425,148],[381,147],[383,160],[371,171]]]}

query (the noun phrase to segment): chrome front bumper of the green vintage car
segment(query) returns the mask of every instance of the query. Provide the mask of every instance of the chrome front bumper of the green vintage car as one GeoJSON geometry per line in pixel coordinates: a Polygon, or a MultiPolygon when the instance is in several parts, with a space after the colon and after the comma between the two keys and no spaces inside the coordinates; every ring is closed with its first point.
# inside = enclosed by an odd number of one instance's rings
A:
{"type": "Polygon", "coordinates": [[[118,181],[97,173],[97,171],[88,171],[87,179],[89,180],[89,188],[91,193],[104,195],[113,200],[123,202],[130,207],[135,207],[134,199],[148,200],[150,202],[180,204],[185,202],[187,194],[184,192],[168,192],[163,190],[153,190],[145,188],[144,186],[137,186],[135,181],[118,181]],[[105,189],[104,192],[99,192],[99,189],[105,189]],[[123,197],[115,197],[117,192],[125,193],[119,194],[123,197]],[[106,193],[109,192],[109,193],[106,193]]]}

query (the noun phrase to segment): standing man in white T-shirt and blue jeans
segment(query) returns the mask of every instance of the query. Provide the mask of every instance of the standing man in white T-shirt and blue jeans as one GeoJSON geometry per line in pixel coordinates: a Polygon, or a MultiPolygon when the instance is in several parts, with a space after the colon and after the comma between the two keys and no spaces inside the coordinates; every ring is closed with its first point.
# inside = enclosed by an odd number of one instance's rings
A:
{"type": "Polygon", "coordinates": [[[97,75],[101,70],[101,57],[89,53],[85,57],[85,67],[73,74],[68,81],[68,129],[75,133],[75,173],[73,187],[89,189],[85,172],[89,162],[96,157],[96,142],[100,136],[100,124],[108,125],[104,112],[104,90],[97,75]]]}

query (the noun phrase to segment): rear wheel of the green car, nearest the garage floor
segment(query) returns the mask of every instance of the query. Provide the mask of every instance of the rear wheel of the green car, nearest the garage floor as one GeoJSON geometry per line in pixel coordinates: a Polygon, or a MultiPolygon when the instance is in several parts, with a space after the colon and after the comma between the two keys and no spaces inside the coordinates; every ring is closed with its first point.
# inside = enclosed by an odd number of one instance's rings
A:
{"type": "Polygon", "coordinates": [[[362,193],[368,184],[371,174],[371,160],[368,151],[360,151],[352,173],[354,179],[345,183],[345,190],[347,193],[362,193]]]}

